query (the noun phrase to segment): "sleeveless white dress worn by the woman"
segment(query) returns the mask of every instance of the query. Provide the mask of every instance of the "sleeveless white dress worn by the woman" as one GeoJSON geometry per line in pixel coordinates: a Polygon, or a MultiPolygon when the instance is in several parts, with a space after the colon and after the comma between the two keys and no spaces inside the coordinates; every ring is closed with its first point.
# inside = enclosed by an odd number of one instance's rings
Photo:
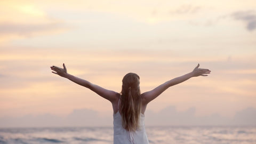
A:
{"type": "MultiPolygon", "coordinates": [[[[118,101],[119,107],[119,101],[118,101]]],[[[144,123],[145,116],[140,116],[140,127],[135,132],[126,131],[122,125],[122,116],[119,108],[114,114],[114,144],[149,144],[144,123]]]]}

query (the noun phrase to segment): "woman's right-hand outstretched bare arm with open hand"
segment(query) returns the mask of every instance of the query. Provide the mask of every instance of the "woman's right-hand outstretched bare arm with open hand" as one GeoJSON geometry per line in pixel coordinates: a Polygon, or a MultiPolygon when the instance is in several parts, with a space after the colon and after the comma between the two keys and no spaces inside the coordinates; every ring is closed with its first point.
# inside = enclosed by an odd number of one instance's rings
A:
{"type": "Polygon", "coordinates": [[[180,77],[173,78],[170,81],[167,81],[167,82],[157,86],[154,90],[142,93],[141,96],[143,99],[143,103],[145,105],[147,105],[147,103],[149,103],[151,100],[154,100],[155,98],[157,98],[158,95],[163,93],[170,86],[187,81],[191,77],[207,76],[207,74],[210,74],[210,73],[211,73],[211,71],[209,69],[199,68],[199,63],[198,63],[198,65],[195,67],[195,69],[193,71],[191,71],[190,73],[180,76],[180,77]]]}

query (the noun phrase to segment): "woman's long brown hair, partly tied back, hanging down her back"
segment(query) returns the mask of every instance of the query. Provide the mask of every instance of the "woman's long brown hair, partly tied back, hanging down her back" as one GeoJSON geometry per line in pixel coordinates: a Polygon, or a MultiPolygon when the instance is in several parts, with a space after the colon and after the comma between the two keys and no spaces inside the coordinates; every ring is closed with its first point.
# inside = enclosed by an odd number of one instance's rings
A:
{"type": "Polygon", "coordinates": [[[134,73],[128,73],[123,78],[121,92],[121,116],[124,129],[135,131],[140,124],[141,97],[140,77],[134,73]]]}

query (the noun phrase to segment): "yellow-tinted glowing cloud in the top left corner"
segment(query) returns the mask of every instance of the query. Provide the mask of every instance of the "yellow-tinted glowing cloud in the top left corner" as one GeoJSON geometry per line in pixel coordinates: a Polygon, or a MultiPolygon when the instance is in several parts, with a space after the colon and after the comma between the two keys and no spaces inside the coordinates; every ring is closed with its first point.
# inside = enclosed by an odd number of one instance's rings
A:
{"type": "Polygon", "coordinates": [[[65,22],[51,17],[29,2],[0,2],[0,43],[68,30],[65,22]]]}

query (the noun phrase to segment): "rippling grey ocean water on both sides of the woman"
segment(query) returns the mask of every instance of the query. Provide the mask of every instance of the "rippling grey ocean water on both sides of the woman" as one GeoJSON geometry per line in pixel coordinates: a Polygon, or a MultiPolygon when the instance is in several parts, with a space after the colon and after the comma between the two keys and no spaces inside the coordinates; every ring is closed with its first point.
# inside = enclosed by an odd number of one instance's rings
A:
{"type": "MultiPolygon", "coordinates": [[[[149,143],[255,144],[256,126],[148,126],[149,143]]],[[[3,144],[110,144],[113,127],[0,128],[3,144]]]]}

